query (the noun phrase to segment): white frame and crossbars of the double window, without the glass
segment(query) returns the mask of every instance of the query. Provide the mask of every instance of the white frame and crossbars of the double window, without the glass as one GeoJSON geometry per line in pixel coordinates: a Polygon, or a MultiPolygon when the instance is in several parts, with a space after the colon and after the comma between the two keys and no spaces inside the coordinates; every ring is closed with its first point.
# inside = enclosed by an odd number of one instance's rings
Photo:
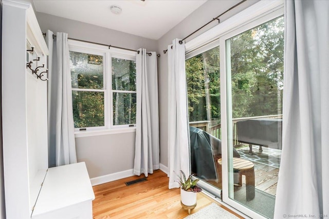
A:
{"type": "MultiPolygon", "coordinates": [[[[76,41],[74,39],[68,39],[68,45],[69,51],[103,56],[103,89],[71,87],[71,91],[104,92],[104,126],[75,128],[76,137],[134,132],[136,130],[136,124],[113,124],[113,92],[122,91],[112,90],[112,57],[136,62],[136,52],[117,48],[109,49],[108,46],[76,41]],[[132,127],[131,125],[134,126],[132,127]]],[[[123,93],[127,92],[136,93],[136,91],[123,91],[123,93]]]]}

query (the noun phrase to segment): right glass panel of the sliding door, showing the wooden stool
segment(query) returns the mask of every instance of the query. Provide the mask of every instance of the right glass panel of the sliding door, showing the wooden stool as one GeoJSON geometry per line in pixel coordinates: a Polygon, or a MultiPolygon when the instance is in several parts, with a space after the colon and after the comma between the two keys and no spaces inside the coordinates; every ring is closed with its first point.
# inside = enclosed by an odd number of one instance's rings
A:
{"type": "Polygon", "coordinates": [[[273,218],[282,150],[284,18],[226,40],[229,198],[273,218]]]}

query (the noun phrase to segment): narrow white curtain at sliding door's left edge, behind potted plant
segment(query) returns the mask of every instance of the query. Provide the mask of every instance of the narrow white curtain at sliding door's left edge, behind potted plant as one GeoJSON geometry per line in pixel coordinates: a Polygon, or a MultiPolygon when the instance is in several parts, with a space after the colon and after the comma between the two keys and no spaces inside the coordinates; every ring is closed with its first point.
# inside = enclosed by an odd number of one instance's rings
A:
{"type": "Polygon", "coordinates": [[[180,175],[180,170],[190,174],[188,128],[185,44],[174,39],[173,44],[168,46],[169,189],[179,188],[177,175],[180,175]]]}

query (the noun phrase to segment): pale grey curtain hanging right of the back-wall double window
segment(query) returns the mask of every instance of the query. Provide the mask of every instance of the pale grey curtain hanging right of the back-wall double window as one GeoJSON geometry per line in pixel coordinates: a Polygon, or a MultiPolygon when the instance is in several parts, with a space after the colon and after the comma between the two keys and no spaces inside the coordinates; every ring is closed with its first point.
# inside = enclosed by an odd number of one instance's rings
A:
{"type": "Polygon", "coordinates": [[[157,56],[145,49],[138,51],[134,174],[148,176],[160,165],[157,56]]]}

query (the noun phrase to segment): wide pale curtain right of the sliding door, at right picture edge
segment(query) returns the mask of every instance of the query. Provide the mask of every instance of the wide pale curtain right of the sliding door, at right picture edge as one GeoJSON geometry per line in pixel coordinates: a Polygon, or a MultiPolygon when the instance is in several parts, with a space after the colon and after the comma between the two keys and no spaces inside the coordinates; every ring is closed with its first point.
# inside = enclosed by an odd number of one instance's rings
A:
{"type": "Polygon", "coordinates": [[[329,214],[329,1],[284,6],[283,146],[275,218],[319,217],[329,214]]]}

